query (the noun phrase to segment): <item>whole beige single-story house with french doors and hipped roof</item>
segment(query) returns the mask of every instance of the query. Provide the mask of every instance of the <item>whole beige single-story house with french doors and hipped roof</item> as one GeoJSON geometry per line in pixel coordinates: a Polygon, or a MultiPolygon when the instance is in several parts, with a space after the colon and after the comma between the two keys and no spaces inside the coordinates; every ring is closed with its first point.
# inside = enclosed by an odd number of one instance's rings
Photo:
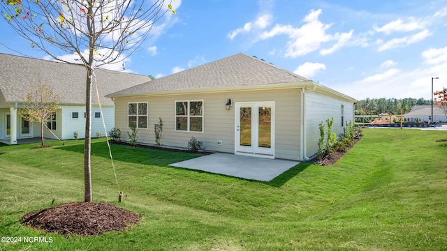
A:
{"type": "Polygon", "coordinates": [[[334,117],[333,132],[353,121],[357,100],[246,54],[108,95],[115,126],[138,126],[138,142],[185,147],[191,137],[207,151],[306,160],[318,150],[318,124],[334,117]]]}

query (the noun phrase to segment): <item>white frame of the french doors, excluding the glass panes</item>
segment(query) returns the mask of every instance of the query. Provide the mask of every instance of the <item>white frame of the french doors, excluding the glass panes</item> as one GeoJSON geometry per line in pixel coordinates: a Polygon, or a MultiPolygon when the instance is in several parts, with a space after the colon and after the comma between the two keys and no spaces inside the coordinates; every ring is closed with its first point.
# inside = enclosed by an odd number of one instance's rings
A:
{"type": "Polygon", "coordinates": [[[259,158],[274,158],[274,101],[235,102],[235,154],[259,158]],[[271,107],[270,118],[270,148],[259,146],[259,114],[260,107],[271,107]],[[240,108],[251,108],[251,146],[240,145],[240,108]]]}

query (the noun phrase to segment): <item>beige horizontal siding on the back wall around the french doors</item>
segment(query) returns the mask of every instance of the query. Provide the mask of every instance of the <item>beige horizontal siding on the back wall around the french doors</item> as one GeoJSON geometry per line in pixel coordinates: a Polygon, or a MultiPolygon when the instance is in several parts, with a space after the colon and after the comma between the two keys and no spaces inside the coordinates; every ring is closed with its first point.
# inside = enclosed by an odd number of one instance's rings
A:
{"type": "Polygon", "coordinates": [[[129,102],[148,103],[148,128],[138,130],[138,142],[154,144],[154,124],[163,119],[161,144],[186,147],[191,137],[203,142],[207,151],[234,153],[235,151],[235,102],[275,102],[275,158],[300,160],[300,91],[284,89],[276,91],[233,91],[227,93],[201,93],[177,96],[150,96],[115,98],[115,125],[122,130],[128,141],[127,107],[129,102]],[[233,106],[225,109],[227,99],[233,106]],[[203,100],[203,132],[175,131],[175,101],[203,100]],[[222,145],[217,144],[221,140],[222,145]]]}

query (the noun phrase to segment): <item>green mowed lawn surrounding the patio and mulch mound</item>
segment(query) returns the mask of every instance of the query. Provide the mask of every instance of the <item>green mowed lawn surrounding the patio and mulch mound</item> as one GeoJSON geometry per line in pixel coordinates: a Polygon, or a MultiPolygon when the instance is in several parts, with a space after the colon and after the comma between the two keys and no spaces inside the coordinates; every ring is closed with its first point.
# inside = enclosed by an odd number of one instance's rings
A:
{"type": "Polygon", "coordinates": [[[197,155],[92,144],[95,201],[142,221],[101,236],[20,224],[30,211],[83,199],[82,141],[0,145],[0,250],[446,250],[447,132],[368,129],[330,167],[303,162],[268,183],[168,167],[197,155]],[[118,203],[118,191],[124,201],[118,203]]]}

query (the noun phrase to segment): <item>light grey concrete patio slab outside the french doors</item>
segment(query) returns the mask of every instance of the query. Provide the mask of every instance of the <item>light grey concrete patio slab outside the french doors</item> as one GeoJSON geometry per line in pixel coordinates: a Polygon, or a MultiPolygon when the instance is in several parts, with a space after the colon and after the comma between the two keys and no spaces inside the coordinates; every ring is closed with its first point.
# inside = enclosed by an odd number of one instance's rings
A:
{"type": "Polygon", "coordinates": [[[171,167],[200,170],[255,181],[271,181],[273,178],[298,165],[294,160],[271,160],[230,153],[213,153],[202,157],[173,163],[171,167]]]}

